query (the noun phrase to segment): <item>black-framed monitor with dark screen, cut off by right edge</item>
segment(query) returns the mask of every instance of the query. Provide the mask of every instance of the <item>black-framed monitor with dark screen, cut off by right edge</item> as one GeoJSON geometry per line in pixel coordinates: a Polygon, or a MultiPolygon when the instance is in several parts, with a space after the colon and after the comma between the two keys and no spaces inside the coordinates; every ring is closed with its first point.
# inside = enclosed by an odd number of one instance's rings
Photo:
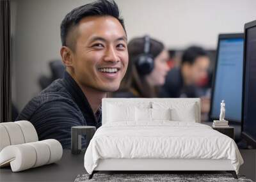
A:
{"type": "Polygon", "coordinates": [[[256,148],[256,20],[244,25],[242,114],[241,137],[256,148]]]}

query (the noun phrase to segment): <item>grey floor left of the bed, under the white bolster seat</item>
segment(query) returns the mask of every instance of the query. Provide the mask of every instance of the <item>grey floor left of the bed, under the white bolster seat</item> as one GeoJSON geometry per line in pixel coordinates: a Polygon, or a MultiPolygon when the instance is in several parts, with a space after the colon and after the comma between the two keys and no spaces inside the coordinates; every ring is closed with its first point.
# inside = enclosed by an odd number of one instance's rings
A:
{"type": "Polygon", "coordinates": [[[12,172],[10,167],[0,168],[0,181],[74,181],[78,174],[86,173],[84,169],[84,152],[72,155],[71,150],[63,150],[60,161],[28,169],[12,172]]]}

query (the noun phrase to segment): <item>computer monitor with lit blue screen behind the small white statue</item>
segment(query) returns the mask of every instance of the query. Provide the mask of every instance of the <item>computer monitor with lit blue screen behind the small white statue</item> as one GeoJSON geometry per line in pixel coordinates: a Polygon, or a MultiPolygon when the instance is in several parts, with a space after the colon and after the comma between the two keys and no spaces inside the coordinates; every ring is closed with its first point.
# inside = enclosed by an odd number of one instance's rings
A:
{"type": "Polygon", "coordinates": [[[220,34],[212,77],[210,118],[220,118],[220,103],[225,100],[225,119],[241,122],[243,92],[243,33],[220,34]]]}

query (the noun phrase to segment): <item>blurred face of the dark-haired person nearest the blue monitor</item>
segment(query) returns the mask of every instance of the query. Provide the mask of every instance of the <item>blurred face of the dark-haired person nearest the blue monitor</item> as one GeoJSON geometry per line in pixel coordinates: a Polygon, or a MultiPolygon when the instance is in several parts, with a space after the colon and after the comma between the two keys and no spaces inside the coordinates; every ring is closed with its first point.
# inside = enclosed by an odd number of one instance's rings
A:
{"type": "Polygon", "coordinates": [[[210,66],[210,59],[207,56],[197,57],[195,62],[190,66],[190,78],[193,84],[200,82],[207,77],[207,71],[210,66]]]}

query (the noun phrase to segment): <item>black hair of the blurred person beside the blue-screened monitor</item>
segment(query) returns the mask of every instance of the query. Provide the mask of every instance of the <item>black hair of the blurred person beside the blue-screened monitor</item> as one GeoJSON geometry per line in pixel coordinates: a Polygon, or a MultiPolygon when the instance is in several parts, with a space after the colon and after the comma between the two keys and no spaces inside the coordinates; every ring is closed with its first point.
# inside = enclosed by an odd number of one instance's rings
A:
{"type": "Polygon", "coordinates": [[[206,50],[204,50],[202,47],[191,46],[184,51],[181,58],[181,64],[182,65],[184,63],[194,64],[196,58],[201,56],[208,56],[206,50]]]}

